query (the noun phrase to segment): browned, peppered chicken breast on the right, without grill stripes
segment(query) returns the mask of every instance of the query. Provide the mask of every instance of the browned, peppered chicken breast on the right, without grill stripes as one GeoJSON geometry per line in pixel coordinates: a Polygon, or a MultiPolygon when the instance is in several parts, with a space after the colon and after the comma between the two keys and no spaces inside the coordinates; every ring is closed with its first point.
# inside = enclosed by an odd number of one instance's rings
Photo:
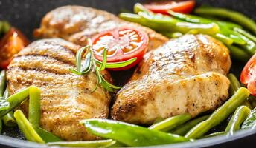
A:
{"type": "Polygon", "coordinates": [[[118,92],[112,118],[152,124],[185,112],[195,117],[228,98],[228,49],[204,35],[185,35],[147,53],[118,92]]]}

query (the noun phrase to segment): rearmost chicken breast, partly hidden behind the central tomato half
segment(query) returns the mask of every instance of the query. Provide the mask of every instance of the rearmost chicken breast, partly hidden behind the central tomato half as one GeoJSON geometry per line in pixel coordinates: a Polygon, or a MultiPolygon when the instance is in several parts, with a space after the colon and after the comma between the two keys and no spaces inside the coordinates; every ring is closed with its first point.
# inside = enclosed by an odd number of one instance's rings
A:
{"type": "Polygon", "coordinates": [[[60,37],[84,46],[87,38],[123,26],[144,30],[150,37],[149,50],[167,41],[166,37],[150,28],[118,19],[117,16],[103,10],[80,6],[59,7],[47,13],[42,19],[41,27],[35,30],[34,35],[41,38],[60,37]]]}

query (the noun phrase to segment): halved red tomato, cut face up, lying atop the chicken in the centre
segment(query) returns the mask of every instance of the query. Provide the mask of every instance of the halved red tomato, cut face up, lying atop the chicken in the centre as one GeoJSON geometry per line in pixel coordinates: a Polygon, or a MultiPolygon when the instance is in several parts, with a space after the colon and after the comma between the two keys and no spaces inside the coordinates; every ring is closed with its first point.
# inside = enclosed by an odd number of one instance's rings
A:
{"type": "Polygon", "coordinates": [[[137,58],[132,64],[110,70],[127,70],[138,64],[147,51],[149,38],[147,33],[133,27],[119,27],[97,34],[92,38],[95,58],[102,61],[103,50],[107,51],[107,62],[127,61],[137,58]]]}

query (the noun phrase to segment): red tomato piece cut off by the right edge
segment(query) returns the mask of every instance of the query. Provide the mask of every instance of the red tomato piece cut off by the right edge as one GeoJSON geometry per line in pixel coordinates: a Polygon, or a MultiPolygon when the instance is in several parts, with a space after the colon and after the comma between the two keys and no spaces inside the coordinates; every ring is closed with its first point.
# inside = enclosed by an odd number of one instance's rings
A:
{"type": "Polygon", "coordinates": [[[256,96],[256,53],[243,67],[240,81],[247,86],[252,95],[256,96]]]}

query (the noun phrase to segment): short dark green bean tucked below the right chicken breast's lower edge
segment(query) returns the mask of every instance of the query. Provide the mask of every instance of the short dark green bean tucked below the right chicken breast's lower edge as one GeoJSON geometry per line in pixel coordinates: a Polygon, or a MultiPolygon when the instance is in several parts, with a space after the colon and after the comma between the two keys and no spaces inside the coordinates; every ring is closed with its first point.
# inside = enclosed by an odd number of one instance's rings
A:
{"type": "Polygon", "coordinates": [[[204,115],[200,118],[195,118],[191,121],[188,121],[187,123],[180,125],[179,127],[176,127],[172,132],[172,134],[176,135],[185,135],[190,129],[196,126],[196,124],[199,124],[202,121],[205,121],[207,118],[209,118],[210,115],[204,115]]]}

